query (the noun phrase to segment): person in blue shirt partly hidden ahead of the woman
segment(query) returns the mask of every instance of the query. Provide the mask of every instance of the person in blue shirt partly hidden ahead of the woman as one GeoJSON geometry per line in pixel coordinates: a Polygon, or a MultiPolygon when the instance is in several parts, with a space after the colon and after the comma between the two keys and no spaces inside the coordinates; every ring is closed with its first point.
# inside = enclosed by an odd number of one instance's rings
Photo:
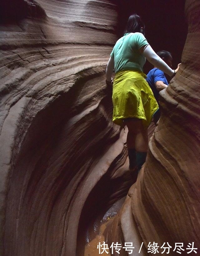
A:
{"type": "MultiPolygon", "coordinates": [[[[165,63],[167,63],[169,67],[172,67],[172,55],[169,51],[164,51],[164,50],[158,51],[157,55],[159,57],[161,57],[161,59],[163,61],[165,61],[165,63]]],[[[178,67],[175,70],[176,72],[178,71],[179,66],[180,66],[180,63],[178,64],[178,67]]],[[[168,80],[165,77],[164,72],[162,70],[160,70],[159,68],[154,67],[153,69],[151,69],[148,72],[146,81],[148,82],[149,86],[151,87],[151,89],[153,91],[153,95],[154,95],[156,101],[158,102],[158,106],[159,106],[159,92],[161,90],[163,90],[164,88],[168,87],[168,80]]],[[[159,118],[160,118],[160,110],[158,110],[154,114],[155,124],[158,122],[159,118]]]]}

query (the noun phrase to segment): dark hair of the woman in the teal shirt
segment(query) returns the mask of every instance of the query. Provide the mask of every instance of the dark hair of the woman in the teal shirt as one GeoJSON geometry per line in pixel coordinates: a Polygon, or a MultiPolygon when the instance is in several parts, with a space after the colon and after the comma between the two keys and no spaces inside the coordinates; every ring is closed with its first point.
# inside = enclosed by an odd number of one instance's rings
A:
{"type": "Polygon", "coordinates": [[[145,28],[144,23],[142,22],[140,16],[137,15],[136,13],[132,14],[128,18],[126,33],[140,32],[140,33],[143,33],[144,35],[144,28],[145,28]]]}

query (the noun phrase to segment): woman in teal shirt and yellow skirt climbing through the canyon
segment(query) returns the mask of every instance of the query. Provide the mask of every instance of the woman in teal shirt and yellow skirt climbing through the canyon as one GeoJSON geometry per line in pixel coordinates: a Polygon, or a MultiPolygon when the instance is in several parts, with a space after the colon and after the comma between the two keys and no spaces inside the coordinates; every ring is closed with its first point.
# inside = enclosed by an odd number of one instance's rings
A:
{"type": "Polygon", "coordinates": [[[144,36],[144,24],[137,14],[128,19],[127,31],[115,44],[106,69],[106,83],[113,83],[113,122],[128,127],[129,168],[140,170],[148,150],[147,128],[158,104],[143,73],[146,58],[170,76],[171,69],[151,48],[144,36]]]}

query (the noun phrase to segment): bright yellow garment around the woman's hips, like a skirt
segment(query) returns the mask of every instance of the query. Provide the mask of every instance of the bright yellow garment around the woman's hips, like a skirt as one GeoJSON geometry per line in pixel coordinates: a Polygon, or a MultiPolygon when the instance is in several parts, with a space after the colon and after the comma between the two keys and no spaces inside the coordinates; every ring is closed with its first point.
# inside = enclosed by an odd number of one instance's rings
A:
{"type": "Polygon", "coordinates": [[[113,122],[123,125],[125,118],[143,120],[147,128],[153,114],[158,110],[158,103],[145,80],[146,75],[139,71],[120,71],[113,83],[113,122]]]}

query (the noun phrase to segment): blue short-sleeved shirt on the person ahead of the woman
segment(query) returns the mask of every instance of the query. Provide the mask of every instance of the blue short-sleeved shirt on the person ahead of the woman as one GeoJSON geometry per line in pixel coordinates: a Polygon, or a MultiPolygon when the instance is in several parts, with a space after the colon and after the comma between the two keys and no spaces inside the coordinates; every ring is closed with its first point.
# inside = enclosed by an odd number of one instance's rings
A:
{"type": "Polygon", "coordinates": [[[168,85],[168,81],[164,75],[164,72],[162,70],[158,69],[157,67],[155,67],[148,72],[146,80],[153,91],[153,95],[154,95],[155,99],[158,102],[159,92],[156,89],[155,83],[158,81],[162,81],[163,83],[168,85]]]}

